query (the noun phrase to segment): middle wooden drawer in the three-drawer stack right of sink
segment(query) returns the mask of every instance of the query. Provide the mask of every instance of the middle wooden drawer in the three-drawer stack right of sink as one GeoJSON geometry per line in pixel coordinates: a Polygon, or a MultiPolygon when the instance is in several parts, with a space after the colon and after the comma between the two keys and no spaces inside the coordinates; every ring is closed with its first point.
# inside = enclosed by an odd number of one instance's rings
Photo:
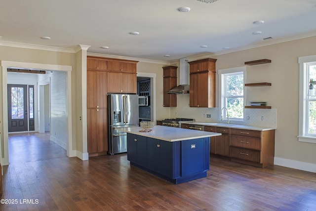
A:
{"type": "Polygon", "coordinates": [[[245,136],[240,136],[240,135],[231,135],[230,141],[231,141],[231,146],[261,150],[260,138],[245,137],[245,136]]]}

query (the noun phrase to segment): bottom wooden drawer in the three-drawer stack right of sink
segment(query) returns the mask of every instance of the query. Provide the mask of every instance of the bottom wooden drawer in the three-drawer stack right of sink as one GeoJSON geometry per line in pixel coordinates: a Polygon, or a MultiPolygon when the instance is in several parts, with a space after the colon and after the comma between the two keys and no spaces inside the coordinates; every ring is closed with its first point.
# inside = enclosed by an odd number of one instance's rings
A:
{"type": "Polygon", "coordinates": [[[230,156],[232,158],[239,158],[247,161],[260,163],[260,151],[243,149],[231,146],[230,156]]]}

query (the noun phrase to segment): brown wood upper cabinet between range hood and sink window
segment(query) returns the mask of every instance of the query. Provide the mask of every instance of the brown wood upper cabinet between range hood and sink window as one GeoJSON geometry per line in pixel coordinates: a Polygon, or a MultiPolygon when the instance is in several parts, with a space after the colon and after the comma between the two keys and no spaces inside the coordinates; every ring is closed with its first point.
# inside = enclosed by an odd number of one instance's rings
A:
{"type": "Polygon", "coordinates": [[[215,107],[216,59],[202,59],[190,64],[190,107],[215,107]]]}

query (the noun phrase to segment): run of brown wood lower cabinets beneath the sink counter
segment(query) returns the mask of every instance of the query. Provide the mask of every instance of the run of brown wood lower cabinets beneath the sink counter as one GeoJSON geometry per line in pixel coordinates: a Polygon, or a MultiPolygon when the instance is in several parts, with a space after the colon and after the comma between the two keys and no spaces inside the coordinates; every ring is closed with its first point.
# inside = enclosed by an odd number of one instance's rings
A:
{"type": "MultiPolygon", "coordinates": [[[[188,124],[181,127],[189,129],[188,124]]],[[[222,133],[221,136],[211,137],[211,154],[261,168],[274,165],[275,130],[204,126],[204,131],[222,133]]]]}

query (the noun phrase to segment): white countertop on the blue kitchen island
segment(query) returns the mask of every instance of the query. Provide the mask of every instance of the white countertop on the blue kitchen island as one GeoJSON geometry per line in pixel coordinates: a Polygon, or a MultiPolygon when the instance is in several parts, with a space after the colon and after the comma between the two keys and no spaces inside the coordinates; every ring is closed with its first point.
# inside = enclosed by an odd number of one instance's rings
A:
{"type": "Polygon", "coordinates": [[[192,130],[192,129],[183,129],[178,127],[166,127],[166,126],[154,126],[150,129],[150,132],[140,132],[139,130],[143,129],[142,127],[124,127],[117,128],[120,131],[142,135],[150,138],[157,138],[164,141],[183,141],[189,139],[196,138],[205,138],[222,135],[222,133],[218,132],[207,132],[200,130],[192,130]]]}

